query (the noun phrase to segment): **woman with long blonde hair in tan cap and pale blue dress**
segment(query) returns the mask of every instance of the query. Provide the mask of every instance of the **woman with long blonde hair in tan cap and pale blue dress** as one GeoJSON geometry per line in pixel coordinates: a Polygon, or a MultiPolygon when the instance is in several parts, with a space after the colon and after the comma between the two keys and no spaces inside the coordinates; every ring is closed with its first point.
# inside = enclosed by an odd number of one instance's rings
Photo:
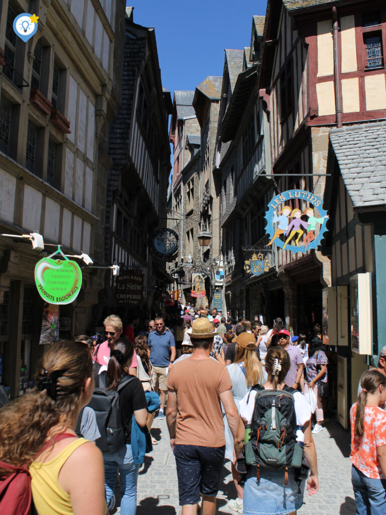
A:
{"type": "MultiPolygon", "coordinates": [[[[240,411],[240,401],[252,386],[265,382],[267,374],[262,369],[256,353],[256,340],[253,334],[241,333],[236,339],[235,360],[226,367],[232,381],[232,395],[240,411]]],[[[232,477],[235,484],[237,499],[229,501],[228,506],[241,513],[242,487],[239,483],[239,473],[236,470],[236,456],[234,454],[234,439],[224,416],[225,430],[225,458],[231,460],[232,477]]]]}

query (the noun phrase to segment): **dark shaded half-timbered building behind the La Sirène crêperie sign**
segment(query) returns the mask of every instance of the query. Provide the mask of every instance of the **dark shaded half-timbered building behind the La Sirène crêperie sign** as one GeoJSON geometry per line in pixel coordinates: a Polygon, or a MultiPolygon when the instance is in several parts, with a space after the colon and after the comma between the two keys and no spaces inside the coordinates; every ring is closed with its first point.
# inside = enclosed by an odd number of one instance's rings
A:
{"type": "Polygon", "coordinates": [[[110,131],[104,251],[106,260],[120,264],[121,272],[142,278],[142,287],[136,299],[118,301],[114,279],[107,277],[99,317],[113,308],[125,319],[135,308],[150,314],[157,308],[155,294],[161,295],[161,284],[167,280],[165,264],[157,261],[150,245],[160,217],[166,227],[163,197],[171,168],[171,108],[170,93],[161,83],[154,29],[135,24],[133,8],[127,8],[122,102],[110,131]]]}

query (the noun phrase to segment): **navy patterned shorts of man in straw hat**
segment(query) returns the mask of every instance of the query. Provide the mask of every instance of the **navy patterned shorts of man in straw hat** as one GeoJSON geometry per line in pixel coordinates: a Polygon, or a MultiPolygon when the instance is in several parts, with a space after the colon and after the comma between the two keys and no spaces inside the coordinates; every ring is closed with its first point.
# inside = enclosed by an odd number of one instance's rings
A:
{"type": "Polygon", "coordinates": [[[224,454],[225,445],[174,445],[180,506],[198,503],[200,493],[217,495],[224,454]]]}

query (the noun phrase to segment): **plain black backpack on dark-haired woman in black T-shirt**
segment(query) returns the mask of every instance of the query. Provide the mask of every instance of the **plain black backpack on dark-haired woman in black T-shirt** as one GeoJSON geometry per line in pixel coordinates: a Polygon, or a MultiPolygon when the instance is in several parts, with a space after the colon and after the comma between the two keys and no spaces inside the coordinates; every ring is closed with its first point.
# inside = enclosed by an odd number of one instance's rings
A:
{"type": "Polygon", "coordinates": [[[93,408],[100,433],[95,443],[102,452],[115,453],[124,445],[126,435],[119,404],[119,392],[134,381],[134,375],[126,376],[118,385],[117,390],[95,388],[89,406],[93,408]]]}

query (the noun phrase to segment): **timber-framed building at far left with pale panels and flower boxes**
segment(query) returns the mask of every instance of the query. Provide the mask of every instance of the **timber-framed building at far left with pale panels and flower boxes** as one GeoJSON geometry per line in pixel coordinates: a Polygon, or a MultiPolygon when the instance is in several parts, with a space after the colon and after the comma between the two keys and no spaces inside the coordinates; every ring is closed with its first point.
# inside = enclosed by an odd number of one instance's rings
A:
{"type": "MultiPolygon", "coordinates": [[[[12,23],[29,3],[3,0],[0,15],[0,230],[38,231],[45,255],[59,244],[65,253],[83,251],[104,264],[108,127],[120,99],[125,4],[33,5],[38,30],[27,43],[16,37],[12,23]]],[[[11,397],[31,385],[43,349],[43,300],[34,285],[42,256],[30,242],[20,242],[0,237],[0,380],[11,397]]],[[[102,287],[100,271],[83,267],[78,298],[61,307],[61,337],[90,327],[102,287]]]]}

